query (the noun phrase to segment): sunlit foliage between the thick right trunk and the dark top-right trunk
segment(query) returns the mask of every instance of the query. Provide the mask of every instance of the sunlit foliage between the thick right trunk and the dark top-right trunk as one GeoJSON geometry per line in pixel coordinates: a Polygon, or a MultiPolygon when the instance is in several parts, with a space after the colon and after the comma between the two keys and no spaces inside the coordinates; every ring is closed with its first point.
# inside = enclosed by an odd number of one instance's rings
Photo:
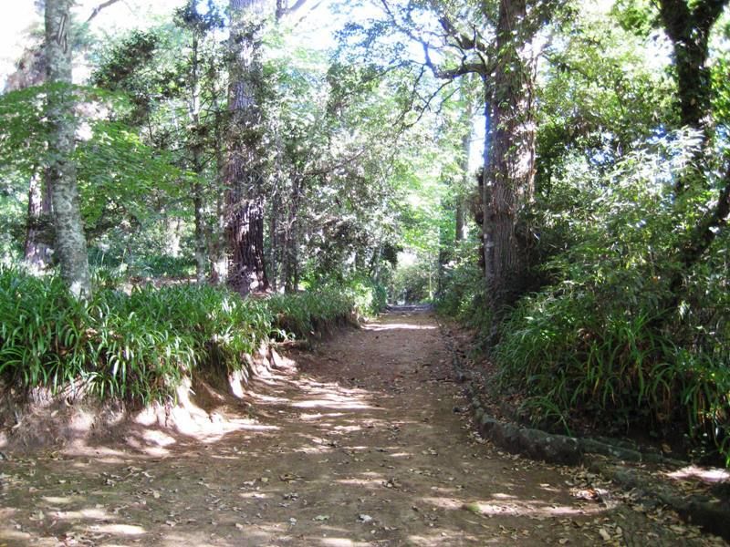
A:
{"type": "Polygon", "coordinates": [[[635,142],[650,138],[658,123],[671,119],[673,84],[645,53],[657,49],[651,37],[635,36],[589,5],[567,36],[548,47],[550,69],[540,77],[537,109],[538,191],[552,190],[550,175],[566,158],[579,153],[594,170],[610,169],[635,142]]]}

